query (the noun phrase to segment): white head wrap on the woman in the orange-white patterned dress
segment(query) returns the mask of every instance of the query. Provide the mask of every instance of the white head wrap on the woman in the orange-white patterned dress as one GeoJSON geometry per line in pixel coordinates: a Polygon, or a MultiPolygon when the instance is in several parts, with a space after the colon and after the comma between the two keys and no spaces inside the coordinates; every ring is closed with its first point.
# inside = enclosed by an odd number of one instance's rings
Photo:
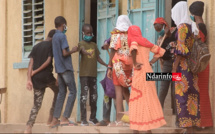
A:
{"type": "Polygon", "coordinates": [[[122,32],[126,32],[131,25],[131,21],[127,15],[120,15],[117,19],[115,28],[122,32]]]}

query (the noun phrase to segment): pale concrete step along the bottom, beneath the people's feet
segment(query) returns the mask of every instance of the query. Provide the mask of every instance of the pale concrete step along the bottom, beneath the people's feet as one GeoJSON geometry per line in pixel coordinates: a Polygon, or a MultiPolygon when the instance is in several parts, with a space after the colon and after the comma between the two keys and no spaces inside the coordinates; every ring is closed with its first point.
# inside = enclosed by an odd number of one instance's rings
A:
{"type": "MultiPolygon", "coordinates": [[[[25,124],[1,124],[0,133],[23,133],[25,124]]],[[[184,129],[161,127],[152,130],[152,133],[182,133],[184,129]]],[[[33,133],[133,133],[129,127],[98,127],[98,126],[64,126],[50,129],[44,124],[35,124],[33,133]]]]}

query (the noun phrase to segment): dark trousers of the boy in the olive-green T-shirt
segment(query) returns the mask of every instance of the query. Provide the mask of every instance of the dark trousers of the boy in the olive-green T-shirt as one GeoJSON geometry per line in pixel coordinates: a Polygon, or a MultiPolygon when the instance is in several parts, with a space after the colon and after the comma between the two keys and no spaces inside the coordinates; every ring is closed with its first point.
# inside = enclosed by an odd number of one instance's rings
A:
{"type": "Polygon", "coordinates": [[[97,79],[96,77],[80,77],[80,82],[81,82],[81,97],[80,97],[81,120],[86,121],[87,118],[86,102],[88,97],[88,90],[90,92],[90,107],[91,107],[90,119],[96,119],[98,97],[97,79]]]}

